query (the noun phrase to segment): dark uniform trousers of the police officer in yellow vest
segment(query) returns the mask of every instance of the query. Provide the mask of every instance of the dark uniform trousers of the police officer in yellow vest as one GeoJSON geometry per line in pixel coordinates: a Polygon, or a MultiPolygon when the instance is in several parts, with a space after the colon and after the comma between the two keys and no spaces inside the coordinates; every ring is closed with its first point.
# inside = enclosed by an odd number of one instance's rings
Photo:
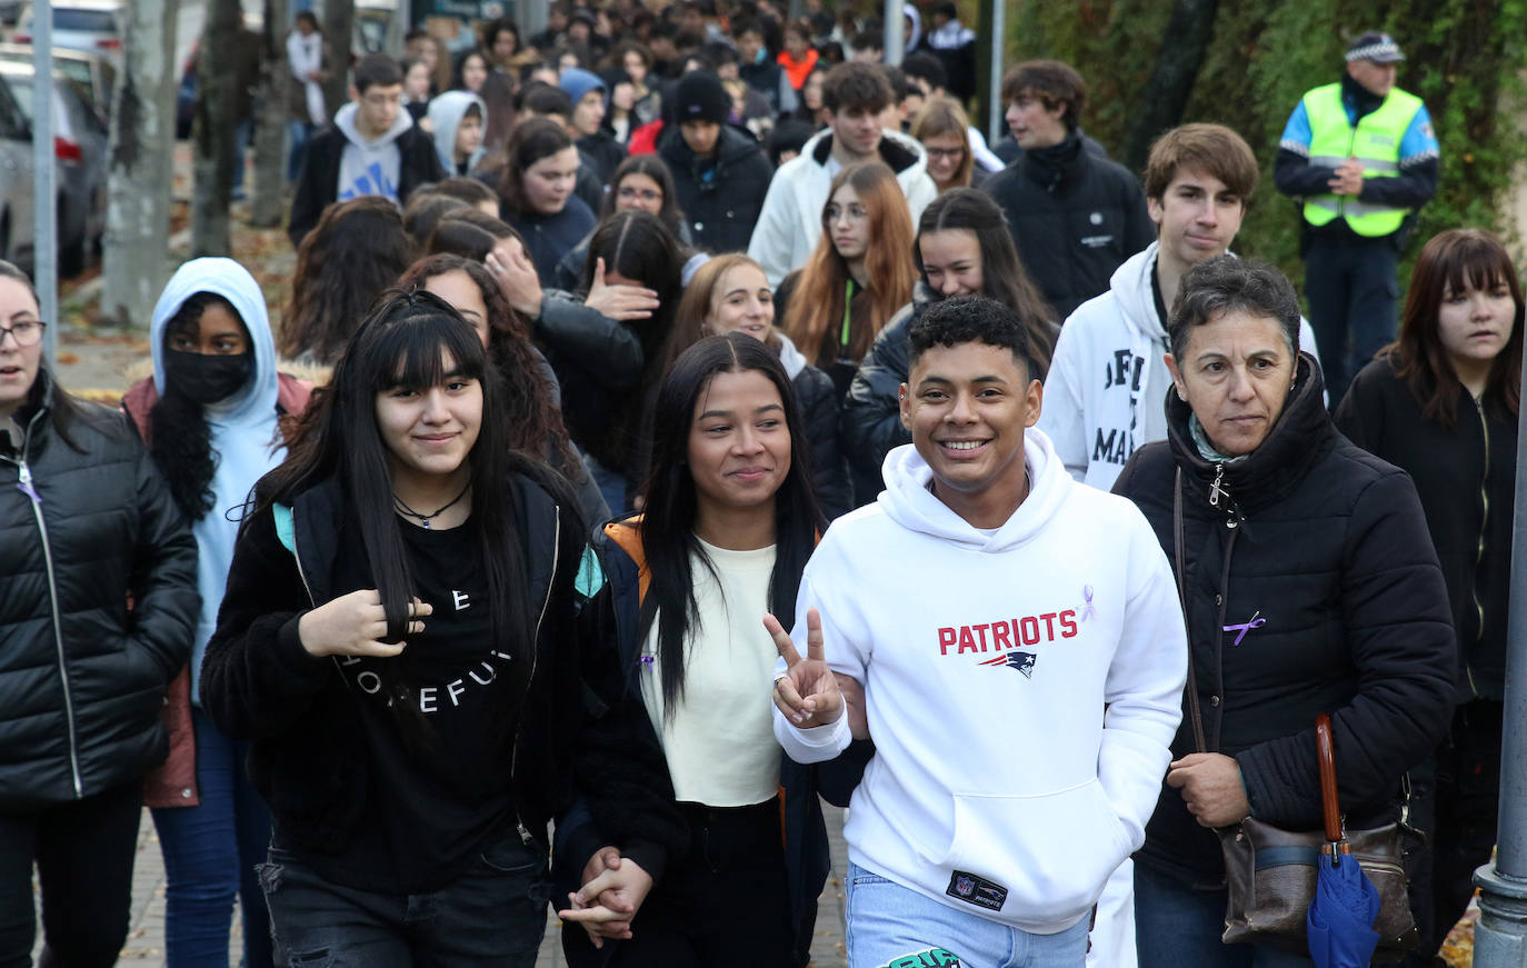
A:
{"type": "Polygon", "coordinates": [[[1304,295],[1332,409],[1373,354],[1394,339],[1400,253],[1390,237],[1315,234],[1304,253],[1304,295]]]}

